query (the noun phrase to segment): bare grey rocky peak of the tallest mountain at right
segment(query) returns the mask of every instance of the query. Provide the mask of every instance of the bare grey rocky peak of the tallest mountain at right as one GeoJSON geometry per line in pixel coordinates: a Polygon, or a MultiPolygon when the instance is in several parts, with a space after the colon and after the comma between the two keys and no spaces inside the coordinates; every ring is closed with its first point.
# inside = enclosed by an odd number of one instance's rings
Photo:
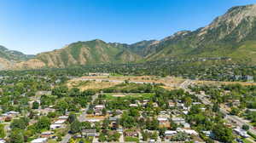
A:
{"type": "Polygon", "coordinates": [[[224,15],[218,16],[209,26],[201,28],[198,36],[203,39],[212,31],[218,31],[218,34],[215,36],[217,40],[220,40],[236,31],[236,41],[239,42],[252,31],[255,21],[256,4],[233,7],[224,15]]]}

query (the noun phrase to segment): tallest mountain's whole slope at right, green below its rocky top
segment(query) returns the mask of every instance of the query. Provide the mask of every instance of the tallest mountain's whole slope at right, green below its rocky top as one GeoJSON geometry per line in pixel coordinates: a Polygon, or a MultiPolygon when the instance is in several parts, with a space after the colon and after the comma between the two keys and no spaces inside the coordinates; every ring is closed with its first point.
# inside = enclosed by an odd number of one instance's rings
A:
{"type": "Polygon", "coordinates": [[[149,50],[147,60],[227,56],[255,61],[255,41],[256,5],[234,7],[209,26],[177,32],[149,47],[154,50],[149,50]]]}

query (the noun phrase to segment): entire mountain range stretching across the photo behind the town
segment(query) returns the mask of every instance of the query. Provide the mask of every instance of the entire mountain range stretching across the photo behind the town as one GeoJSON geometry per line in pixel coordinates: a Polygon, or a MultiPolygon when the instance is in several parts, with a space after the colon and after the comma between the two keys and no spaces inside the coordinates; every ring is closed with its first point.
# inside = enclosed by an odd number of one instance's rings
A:
{"type": "Polygon", "coordinates": [[[230,57],[255,65],[256,4],[233,7],[208,26],[195,31],[178,31],[160,41],[126,44],[96,39],[37,55],[22,54],[3,46],[0,50],[1,69],[62,68],[195,57],[230,57]]]}

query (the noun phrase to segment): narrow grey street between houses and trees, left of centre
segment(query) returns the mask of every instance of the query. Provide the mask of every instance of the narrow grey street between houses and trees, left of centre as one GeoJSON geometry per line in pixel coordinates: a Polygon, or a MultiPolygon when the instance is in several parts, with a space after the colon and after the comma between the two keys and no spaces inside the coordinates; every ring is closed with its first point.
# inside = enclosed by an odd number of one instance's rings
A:
{"type": "MultiPolygon", "coordinates": [[[[95,94],[92,95],[92,100],[90,101],[91,103],[93,103],[97,98],[98,98],[99,94],[95,94]]],[[[79,122],[84,122],[86,120],[86,112],[89,110],[89,105],[85,108],[84,112],[82,112],[82,114],[78,117],[79,118],[79,122]]],[[[68,143],[68,141],[72,138],[72,134],[66,134],[62,140],[61,143],[68,143]]]]}

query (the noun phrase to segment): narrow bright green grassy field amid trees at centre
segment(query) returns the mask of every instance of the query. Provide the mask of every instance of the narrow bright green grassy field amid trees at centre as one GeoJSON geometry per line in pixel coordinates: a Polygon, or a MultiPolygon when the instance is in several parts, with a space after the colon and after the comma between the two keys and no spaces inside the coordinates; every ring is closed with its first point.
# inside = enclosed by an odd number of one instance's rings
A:
{"type": "Polygon", "coordinates": [[[131,99],[135,99],[135,100],[147,100],[150,99],[151,97],[154,96],[154,93],[106,93],[106,99],[107,100],[116,100],[118,98],[124,99],[124,100],[131,100],[131,99]]]}

